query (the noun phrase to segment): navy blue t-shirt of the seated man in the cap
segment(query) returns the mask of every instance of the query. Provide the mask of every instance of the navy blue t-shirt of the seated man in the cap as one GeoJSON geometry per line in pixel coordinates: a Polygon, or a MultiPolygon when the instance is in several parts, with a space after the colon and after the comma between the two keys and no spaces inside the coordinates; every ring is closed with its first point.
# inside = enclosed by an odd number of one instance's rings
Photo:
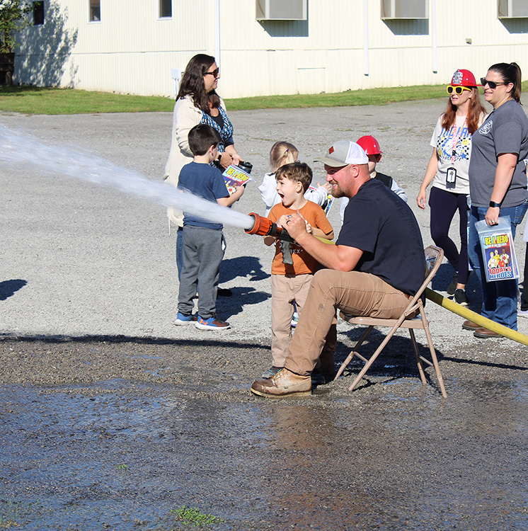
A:
{"type": "Polygon", "coordinates": [[[403,293],[415,295],[425,280],[418,222],[381,181],[369,179],[350,198],[335,243],[363,251],[355,271],[372,273],[403,293]]]}

